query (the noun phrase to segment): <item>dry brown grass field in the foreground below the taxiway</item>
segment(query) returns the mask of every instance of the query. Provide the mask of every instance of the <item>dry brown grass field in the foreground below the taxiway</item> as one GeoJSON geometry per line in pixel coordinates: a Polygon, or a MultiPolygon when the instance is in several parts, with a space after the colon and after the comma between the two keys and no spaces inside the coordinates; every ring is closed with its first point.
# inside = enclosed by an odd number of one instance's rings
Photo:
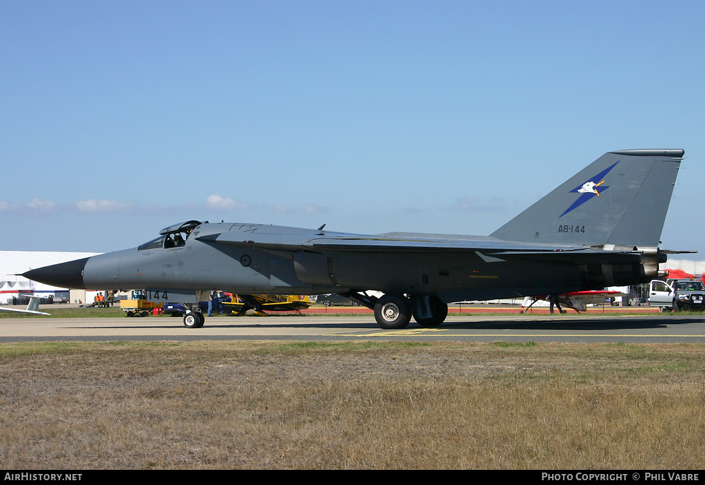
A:
{"type": "Polygon", "coordinates": [[[705,346],[0,345],[4,469],[701,469],[705,346]]]}

